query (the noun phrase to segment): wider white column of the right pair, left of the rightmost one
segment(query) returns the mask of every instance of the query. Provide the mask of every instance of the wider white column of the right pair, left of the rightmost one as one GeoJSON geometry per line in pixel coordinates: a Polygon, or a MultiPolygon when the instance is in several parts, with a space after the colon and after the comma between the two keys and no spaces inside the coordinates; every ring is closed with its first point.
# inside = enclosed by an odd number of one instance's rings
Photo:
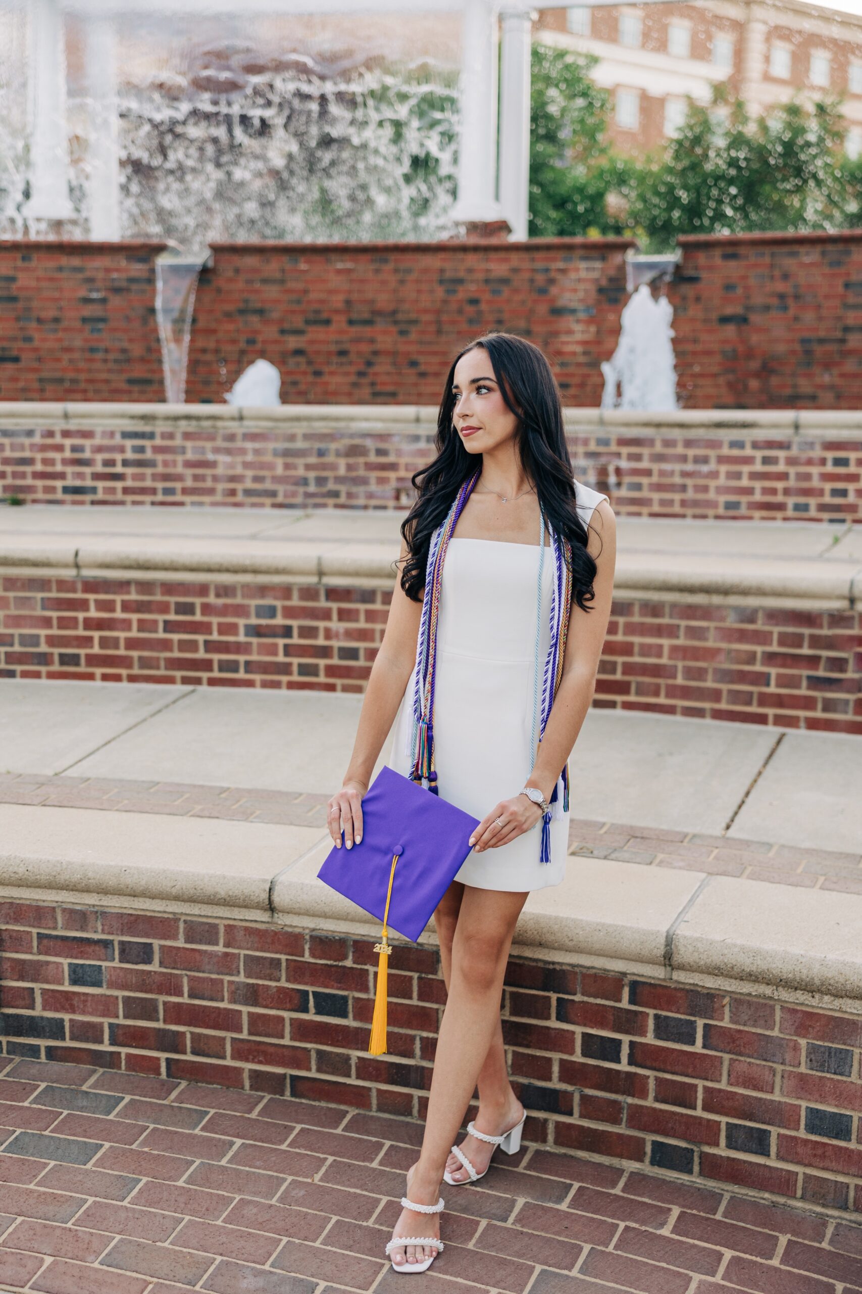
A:
{"type": "Polygon", "coordinates": [[[461,136],[457,158],[457,221],[500,220],[496,201],[496,8],[465,0],[461,19],[461,136]]]}

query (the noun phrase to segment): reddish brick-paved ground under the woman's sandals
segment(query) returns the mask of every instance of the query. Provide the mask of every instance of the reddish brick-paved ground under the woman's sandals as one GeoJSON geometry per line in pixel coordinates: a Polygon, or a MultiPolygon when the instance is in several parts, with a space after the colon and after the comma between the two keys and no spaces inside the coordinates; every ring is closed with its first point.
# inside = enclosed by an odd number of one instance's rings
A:
{"type": "MultiPolygon", "coordinates": [[[[0,1289],[340,1294],[381,1259],[420,1124],[0,1057],[0,1289]]],[[[862,1225],[526,1146],[445,1188],[411,1294],[862,1294],[862,1225]]]]}

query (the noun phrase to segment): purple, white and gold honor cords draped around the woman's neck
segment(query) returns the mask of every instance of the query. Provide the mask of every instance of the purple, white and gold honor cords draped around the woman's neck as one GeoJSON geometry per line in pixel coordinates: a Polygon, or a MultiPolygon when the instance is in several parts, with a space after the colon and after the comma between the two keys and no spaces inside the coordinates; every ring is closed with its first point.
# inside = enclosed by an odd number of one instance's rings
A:
{"type": "MultiPolygon", "coordinates": [[[[411,725],[410,738],[410,778],[420,785],[425,784],[434,795],[438,795],[437,769],[434,765],[434,691],[437,687],[437,625],[439,620],[443,562],[446,560],[448,541],[451,540],[455,527],[457,525],[457,519],[464,511],[464,506],[473,493],[473,488],[478,479],[479,471],[476,471],[459,489],[457,496],[446,515],[446,520],[437,527],[432,536],[428,550],[428,565],[425,568],[425,594],[423,598],[423,613],[419,624],[416,672],[414,679],[414,721],[411,725]]],[[[569,612],[571,608],[571,543],[551,528],[544,511],[541,511],[540,542],[541,550],[539,554],[539,578],[536,587],[536,642],[531,741],[534,756],[538,745],[541,743],[541,738],[544,736],[553,700],[557,695],[560,681],[562,679],[562,664],[566,652],[566,635],[569,631],[569,612]],[[551,608],[548,613],[551,644],[545,656],[544,669],[540,674],[539,656],[541,642],[541,585],[544,573],[545,528],[551,534],[551,546],[553,550],[553,584],[551,591],[551,608]],[[541,683],[539,683],[539,678],[541,678],[541,683]]],[[[541,848],[539,859],[543,863],[551,862],[551,820],[552,818],[561,818],[563,813],[567,813],[567,810],[569,765],[566,763],[566,767],[562,770],[557,785],[554,785],[551,795],[551,809],[544,815],[541,822],[541,848]]]]}

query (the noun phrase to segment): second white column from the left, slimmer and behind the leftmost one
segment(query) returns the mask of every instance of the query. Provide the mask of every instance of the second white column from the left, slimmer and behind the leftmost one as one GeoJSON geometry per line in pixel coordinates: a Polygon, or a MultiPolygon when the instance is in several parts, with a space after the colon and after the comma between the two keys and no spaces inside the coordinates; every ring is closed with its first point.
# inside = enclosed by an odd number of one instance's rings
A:
{"type": "Polygon", "coordinates": [[[116,94],[116,27],[111,17],[85,25],[89,97],[89,236],[120,237],[120,120],[116,94]]]}

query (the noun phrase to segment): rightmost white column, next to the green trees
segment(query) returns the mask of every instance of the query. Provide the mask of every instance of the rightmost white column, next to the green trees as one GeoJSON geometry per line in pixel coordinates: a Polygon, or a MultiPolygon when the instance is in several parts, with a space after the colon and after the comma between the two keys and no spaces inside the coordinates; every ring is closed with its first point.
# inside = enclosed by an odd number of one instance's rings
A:
{"type": "Polygon", "coordinates": [[[504,13],[500,25],[500,207],[510,237],[523,239],[530,208],[532,13],[504,13]]]}

